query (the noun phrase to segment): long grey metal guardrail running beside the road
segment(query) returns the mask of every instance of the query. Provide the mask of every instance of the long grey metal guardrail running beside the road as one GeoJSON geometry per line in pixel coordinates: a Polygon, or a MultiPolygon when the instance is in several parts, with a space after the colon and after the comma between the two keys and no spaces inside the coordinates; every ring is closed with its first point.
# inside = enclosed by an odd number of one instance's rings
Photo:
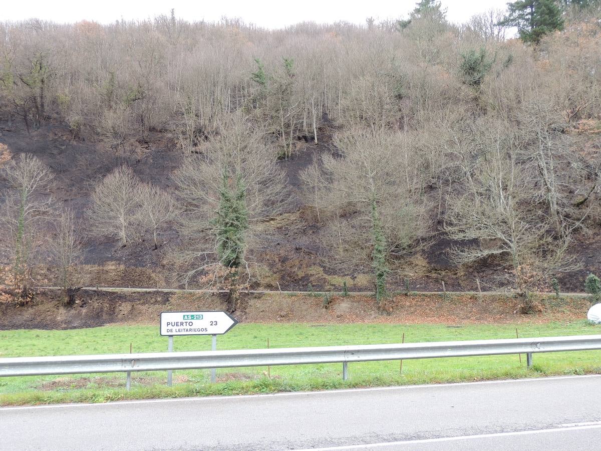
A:
{"type": "Polygon", "coordinates": [[[404,343],[398,345],[13,357],[0,358],[0,376],[343,363],[343,377],[346,379],[347,364],[362,361],[527,354],[528,366],[531,366],[531,355],[533,353],[589,351],[594,349],[601,349],[601,334],[505,340],[404,343]]]}

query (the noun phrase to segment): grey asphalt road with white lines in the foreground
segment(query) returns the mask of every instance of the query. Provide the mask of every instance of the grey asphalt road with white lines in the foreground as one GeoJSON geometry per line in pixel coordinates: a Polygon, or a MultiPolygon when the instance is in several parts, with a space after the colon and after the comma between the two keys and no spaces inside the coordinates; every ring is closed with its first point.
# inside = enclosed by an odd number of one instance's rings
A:
{"type": "Polygon", "coordinates": [[[0,408],[0,449],[601,449],[600,387],[566,376],[0,408]]]}

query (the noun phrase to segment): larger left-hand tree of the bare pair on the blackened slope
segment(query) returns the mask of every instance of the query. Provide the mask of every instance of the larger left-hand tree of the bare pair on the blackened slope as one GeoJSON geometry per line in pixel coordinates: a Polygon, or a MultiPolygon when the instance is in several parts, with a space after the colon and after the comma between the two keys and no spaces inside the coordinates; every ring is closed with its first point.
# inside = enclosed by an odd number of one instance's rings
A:
{"type": "Polygon", "coordinates": [[[139,180],[127,166],[121,166],[100,180],[91,194],[88,210],[92,233],[119,240],[127,245],[135,232],[140,192],[139,180]]]}

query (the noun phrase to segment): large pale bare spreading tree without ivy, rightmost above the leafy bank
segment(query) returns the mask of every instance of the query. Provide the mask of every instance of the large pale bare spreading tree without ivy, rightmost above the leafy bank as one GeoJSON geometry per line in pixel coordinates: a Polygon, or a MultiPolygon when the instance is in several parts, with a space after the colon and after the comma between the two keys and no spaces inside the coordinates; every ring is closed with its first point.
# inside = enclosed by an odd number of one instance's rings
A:
{"type": "Polygon", "coordinates": [[[450,238],[474,242],[453,248],[457,263],[501,259],[510,269],[523,310],[530,311],[530,292],[542,280],[578,265],[567,255],[569,230],[562,229],[555,238],[552,218],[532,206],[532,176],[516,163],[512,144],[500,130],[490,132],[465,194],[451,204],[446,229],[450,238]]]}

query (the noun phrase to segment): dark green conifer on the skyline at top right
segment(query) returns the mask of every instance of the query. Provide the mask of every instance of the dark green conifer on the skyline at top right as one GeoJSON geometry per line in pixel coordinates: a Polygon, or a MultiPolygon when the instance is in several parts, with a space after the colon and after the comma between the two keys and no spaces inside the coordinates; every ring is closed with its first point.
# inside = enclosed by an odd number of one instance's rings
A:
{"type": "Polygon", "coordinates": [[[561,10],[554,0],[518,0],[507,7],[507,17],[499,25],[516,26],[524,42],[538,44],[545,34],[563,29],[561,10]]]}

